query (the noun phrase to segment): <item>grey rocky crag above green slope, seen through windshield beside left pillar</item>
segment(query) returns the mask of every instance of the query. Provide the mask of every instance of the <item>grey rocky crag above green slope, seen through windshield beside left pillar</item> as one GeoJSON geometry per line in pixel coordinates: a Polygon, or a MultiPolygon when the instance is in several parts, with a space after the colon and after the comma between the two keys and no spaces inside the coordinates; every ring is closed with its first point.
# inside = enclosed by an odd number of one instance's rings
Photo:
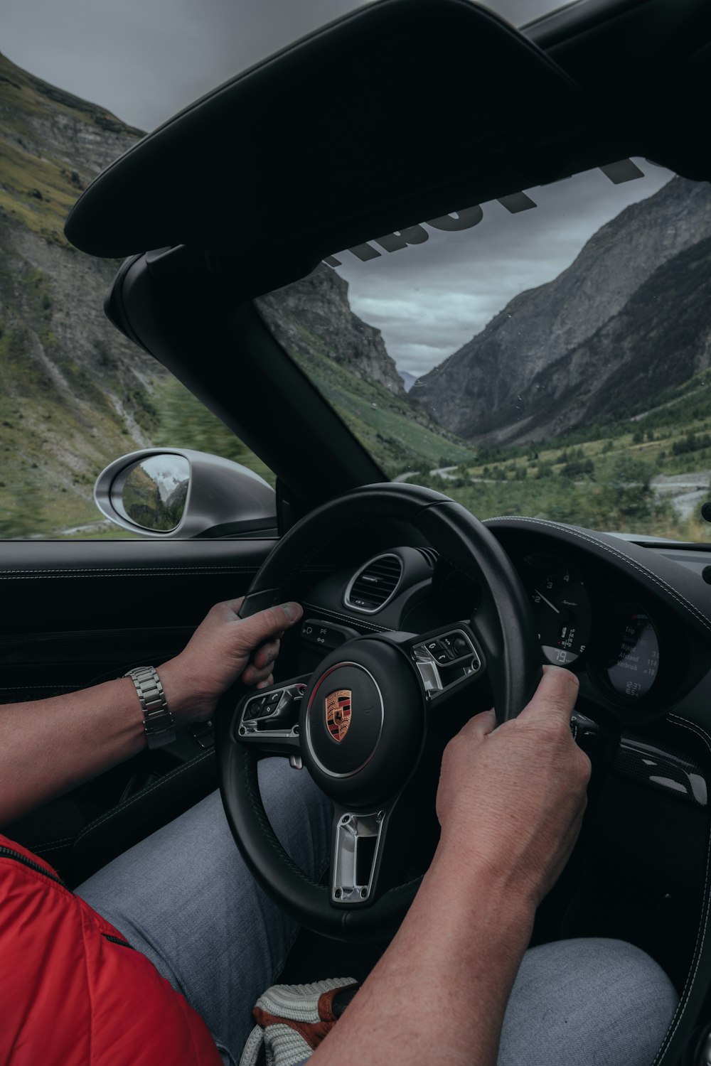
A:
{"type": "Polygon", "coordinates": [[[405,384],[388,355],[379,329],[351,310],[349,286],[327,270],[262,296],[259,308],[277,340],[290,354],[308,358],[316,343],[335,362],[359,377],[405,395],[405,384]]]}

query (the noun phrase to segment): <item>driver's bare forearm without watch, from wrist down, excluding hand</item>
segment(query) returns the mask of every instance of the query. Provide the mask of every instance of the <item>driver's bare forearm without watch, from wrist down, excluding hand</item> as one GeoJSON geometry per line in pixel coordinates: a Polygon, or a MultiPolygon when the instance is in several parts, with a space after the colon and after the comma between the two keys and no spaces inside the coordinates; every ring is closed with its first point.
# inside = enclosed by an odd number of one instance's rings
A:
{"type": "Polygon", "coordinates": [[[438,851],[398,935],[313,1066],[494,1066],[535,905],[438,851]]]}

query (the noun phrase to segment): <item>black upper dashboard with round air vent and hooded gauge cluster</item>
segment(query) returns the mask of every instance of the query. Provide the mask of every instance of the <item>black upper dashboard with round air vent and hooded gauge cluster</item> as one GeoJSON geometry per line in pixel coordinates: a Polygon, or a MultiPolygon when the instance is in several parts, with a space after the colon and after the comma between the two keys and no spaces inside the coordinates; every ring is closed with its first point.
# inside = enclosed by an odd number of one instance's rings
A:
{"type": "MultiPolygon", "coordinates": [[[[542,662],[579,676],[588,711],[648,722],[708,675],[711,587],[702,574],[711,552],[535,519],[486,524],[521,578],[542,662]]],[[[308,666],[319,648],[325,653],[359,633],[427,632],[470,618],[475,629],[481,596],[475,574],[462,574],[431,547],[387,546],[308,591],[308,666]]],[[[706,708],[698,713],[706,717],[706,708]]]]}

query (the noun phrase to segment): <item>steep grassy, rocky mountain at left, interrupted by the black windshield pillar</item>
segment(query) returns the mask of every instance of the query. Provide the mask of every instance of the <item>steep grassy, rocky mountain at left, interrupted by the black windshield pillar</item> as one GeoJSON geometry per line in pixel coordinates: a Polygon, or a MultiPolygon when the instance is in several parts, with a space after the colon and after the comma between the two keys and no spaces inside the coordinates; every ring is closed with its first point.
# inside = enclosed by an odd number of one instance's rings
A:
{"type": "MultiPolygon", "coordinates": [[[[264,465],[104,318],[117,261],[64,238],[82,189],[142,136],[0,55],[0,536],[94,527],[93,484],[143,447],[264,465]]],[[[409,403],[377,329],[328,271],[262,301],[276,335],[391,473],[471,456],[409,403]]],[[[92,530],[93,533],[97,531],[92,530]]]]}

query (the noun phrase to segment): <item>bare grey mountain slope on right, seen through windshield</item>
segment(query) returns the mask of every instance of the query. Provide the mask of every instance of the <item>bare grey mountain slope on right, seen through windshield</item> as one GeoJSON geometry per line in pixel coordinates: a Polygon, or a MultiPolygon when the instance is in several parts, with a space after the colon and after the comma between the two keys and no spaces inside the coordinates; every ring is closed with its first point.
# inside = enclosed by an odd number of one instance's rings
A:
{"type": "Polygon", "coordinates": [[[558,278],[512,300],[420,377],[410,397],[451,432],[487,445],[540,439],[615,417],[632,387],[650,398],[658,384],[641,332],[648,316],[660,330],[668,320],[667,355],[688,353],[674,373],[691,376],[702,356],[696,349],[692,354],[688,337],[677,342],[676,333],[688,330],[674,301],[700,281],[693,249],[709,237],[711,188],[672,179],[602,226],[558,278]],[[591,357],[593,365],[585,361],[591,357]]]}

